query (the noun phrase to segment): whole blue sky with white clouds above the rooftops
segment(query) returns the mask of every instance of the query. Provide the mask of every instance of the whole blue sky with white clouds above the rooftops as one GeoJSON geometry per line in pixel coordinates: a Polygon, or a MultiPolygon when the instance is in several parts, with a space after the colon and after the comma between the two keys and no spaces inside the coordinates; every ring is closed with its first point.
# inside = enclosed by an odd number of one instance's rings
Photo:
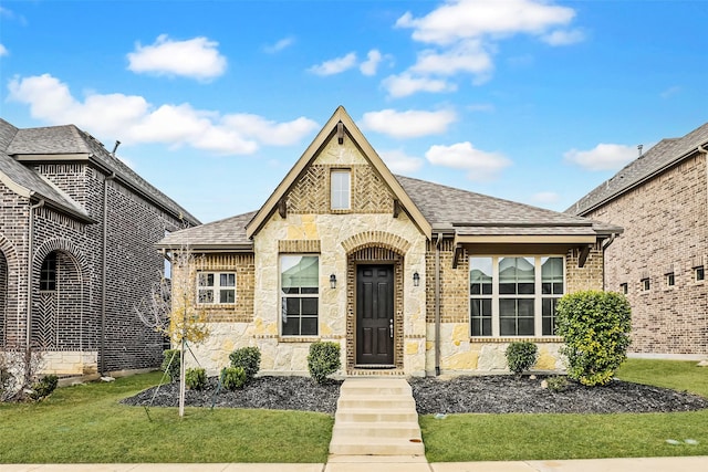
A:
{"type": "Polygon", "coordinates": [[[395,174],[562,211],[708,120],[708,1],[13,1],[1,116],[73,123],[204,222],[339,105],[395,174]]]}

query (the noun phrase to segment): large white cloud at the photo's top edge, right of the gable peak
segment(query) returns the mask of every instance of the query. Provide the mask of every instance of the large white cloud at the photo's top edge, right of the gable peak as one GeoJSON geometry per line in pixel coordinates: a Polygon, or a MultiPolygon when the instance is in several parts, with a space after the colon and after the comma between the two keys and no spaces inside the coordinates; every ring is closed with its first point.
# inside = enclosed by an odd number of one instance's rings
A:
{"type": "Polygon", "coordinates": [[[421,18],[405,13],[396,27],[413,29],[413,39],[434,44],[491,35],[542,34],[550,28],[569,24],[575,12],[535,0],[449,0],[421,18]]]}

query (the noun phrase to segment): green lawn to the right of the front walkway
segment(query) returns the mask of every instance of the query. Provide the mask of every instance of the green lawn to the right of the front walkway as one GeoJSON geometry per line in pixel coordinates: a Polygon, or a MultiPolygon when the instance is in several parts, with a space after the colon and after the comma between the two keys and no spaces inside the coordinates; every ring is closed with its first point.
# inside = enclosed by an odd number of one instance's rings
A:
{"type": "MultiPolygon", "coordinates": [[[[708,397],[708,368],[695,361],[631,359],[617,377],[708,397]]],[[[430,462],[708,455],[708,410],[623,415],[420,417],[430,462]],[[698,445],[670,445],[695,439],[698,445]]]]}

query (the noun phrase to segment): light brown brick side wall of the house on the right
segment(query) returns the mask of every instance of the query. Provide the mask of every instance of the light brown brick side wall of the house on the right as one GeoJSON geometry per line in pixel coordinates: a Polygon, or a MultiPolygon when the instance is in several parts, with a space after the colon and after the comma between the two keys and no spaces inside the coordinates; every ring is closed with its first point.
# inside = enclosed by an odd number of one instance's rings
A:
{"type": "Polygon", "coordinates": [[[694,279],[708,262],[706,185],[706,156],[697,154],[587,214],[625,230],[605,255],[606,289],[627,284],[633,353],[708,354],[708,283],[694,279]]]}

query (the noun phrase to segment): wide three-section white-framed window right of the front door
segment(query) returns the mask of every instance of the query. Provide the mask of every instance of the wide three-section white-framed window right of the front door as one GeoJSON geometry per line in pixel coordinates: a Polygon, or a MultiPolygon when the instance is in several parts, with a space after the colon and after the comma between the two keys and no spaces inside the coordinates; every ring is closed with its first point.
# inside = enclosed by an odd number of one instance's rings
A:
{"type": "Polygon", "coordinates": [[[565,293],[563,256],[473,256],[470,334],[553,336],[555,305],[565,293]]]}

